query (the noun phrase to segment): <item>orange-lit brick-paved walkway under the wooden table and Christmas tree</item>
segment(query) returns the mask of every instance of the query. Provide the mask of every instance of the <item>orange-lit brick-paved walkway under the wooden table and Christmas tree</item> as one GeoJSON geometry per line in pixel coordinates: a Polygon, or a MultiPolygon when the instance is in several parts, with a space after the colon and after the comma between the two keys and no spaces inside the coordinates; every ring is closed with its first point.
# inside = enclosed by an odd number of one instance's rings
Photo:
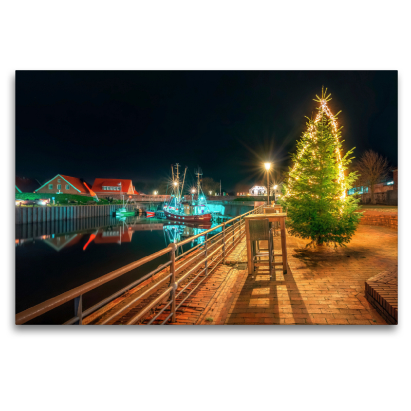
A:
{"type": "Polygon", "coordinates": [[[287,235],[287,274],[277,266],[270,279],[247,274],[243,239],[175,324],[386,324],[364,297],[364,282],[397,266],[397,231],[359,226],[347,248],[307,249],[307,242],[287,235]]]}

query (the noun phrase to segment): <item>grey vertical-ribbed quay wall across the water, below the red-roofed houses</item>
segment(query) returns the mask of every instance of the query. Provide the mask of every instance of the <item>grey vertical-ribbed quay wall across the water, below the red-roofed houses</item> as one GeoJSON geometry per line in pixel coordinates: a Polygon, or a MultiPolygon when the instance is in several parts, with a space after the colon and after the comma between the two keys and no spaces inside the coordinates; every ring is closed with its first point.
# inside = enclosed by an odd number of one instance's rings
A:
{"type": "MultiPolygon", "coordinates": [[[[16,224],[33,222],[70,220],[73,218],[100,217],[112,215],[121,204],[103,204],[101,206],[60,206],[60,207],[16,207],[16,224]]],[[[127,204],[126,209],[132,211],[133,204],[127,204]]]]}

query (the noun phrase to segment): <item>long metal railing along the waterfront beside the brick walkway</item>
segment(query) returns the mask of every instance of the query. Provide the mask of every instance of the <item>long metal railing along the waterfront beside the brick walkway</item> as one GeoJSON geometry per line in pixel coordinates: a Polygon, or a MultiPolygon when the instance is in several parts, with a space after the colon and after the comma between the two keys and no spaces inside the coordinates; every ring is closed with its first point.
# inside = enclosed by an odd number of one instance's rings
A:
{"type": "Polygon", "coordinates": [[[166,269],[166,271],[164,275],[159,276],[158,281],[153,282],[153,285],[145,290],[142,290],[141,293],[131,298],[125,304],[122,304],[120,307],[110,310],[109,315],[105,316],[104,319],[99,322],[99,324],[107,324],[130,306],[141,303],[141,307],[139,308],[138,312],[127,321],[127,324],[135,324],[143,320],[144,316],[150,310],[155,308],[161,302],[164,302],[165,299],[167,300],[167,302],[164,307],[150,320],[150,322],[148,322],[148,324],[152,324],[154,321],[156,321],[158,317],[169,307],[170,313],[165,317],[161,324],[165,324],[170,319],[172,320],[172,322],[175,322],[176,312],[178,308],[197,289],[197,287],[199,287],[203,280],[207,278],[207,276],[218,266],[218,264],[221,263],[221,261],[223,264],[226,263],[227,255],[232,250],[234,250],[237,244],[244,237],[244,217],[248,214],[262,213],[265,205],[266,203],[255,208],[254,210],[241,214],[228,221],[222,222],[218,226],[215,226],[207,231],[203,231],[197,235],[186,238],[183,241],[178,242],[177,244],[170,244],[168,247],[160,251],[134,261],[134,263],[130,263],[117,270],[111,271],[110,273],[89,281],[82,286],[73,288],[69,291],[64,292],[63,294],[51,298],[50,300],[22,311],[15,315],[15,323],[24,324],[34,319],[35,317],[38,317],[39,315],[45,314],[46,312],[59,307],[64,303],[67,303],[68,301],[73,301],[74,316],[64,324],[82,324],[83,320],[87,316],[96,313],[99,309],[106,306],[128,290],[131,290],[142,284],[147,279],[153,279],[154,275],[160,273],[164,269],[166,269]],[[208,235],[210,233],[216,231],[219,228],[221,228],[220,233],[208,238],[208,235]],[[189,242],[195,240],[200,236],[205,236],[204,242],[200,242],[197,246],[191,248],[188,251],[185,251],[184,253],[176,257],[176,250],[178,247],[188,244],[189,242]],[[109,281],[112,281],[113,279],[118,278],[121,275],[134,270],[135,268],[138,268],[148,263],[149,261],[153,261],[154,259],[167,253],[170,253],[169,261],[161,264],[155,270],[145,274],[128,286],[122,288],[109,297],[104,298],[104,300],[100,301],[94,306],[83,311],[83,295],[85,293],[94,290],[101,285],[108,283],[109,281]],[[186,258],[182,259],[182,257],[185,256],[186,258]],[[179,263],[180,260],[181,262],[179,263]],[[177,298],[180,297],[182,293],[185,292],[202,274],[203,276],[200,281],[195,285],[195,287],[191,289],[191,291],[187,295],[184,296],[181,301],[179,301],[177,305],[177,298]],[[194,277],[191,277],[193,275],[194,277]],[[184,282],[187,283],[183,285],[184,282]],[[177,289],[182,285],[183,287],[177,293],[177,289]]]}

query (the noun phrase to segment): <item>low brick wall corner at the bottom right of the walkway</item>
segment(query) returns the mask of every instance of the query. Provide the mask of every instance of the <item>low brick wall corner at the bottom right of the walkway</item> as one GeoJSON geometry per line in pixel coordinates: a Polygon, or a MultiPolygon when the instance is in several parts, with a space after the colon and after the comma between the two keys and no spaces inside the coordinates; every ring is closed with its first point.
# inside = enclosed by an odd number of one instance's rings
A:
{"type": "Polygon", "coordinates": [[[398,324],[398,269],[368,278],[365,298],[388,324],[398,324]]]}

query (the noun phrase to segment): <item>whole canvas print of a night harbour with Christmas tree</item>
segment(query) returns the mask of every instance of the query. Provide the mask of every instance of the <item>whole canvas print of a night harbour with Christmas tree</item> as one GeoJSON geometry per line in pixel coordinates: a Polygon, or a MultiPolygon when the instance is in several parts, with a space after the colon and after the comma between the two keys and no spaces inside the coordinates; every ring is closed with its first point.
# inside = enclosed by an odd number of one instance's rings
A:
{"type": "Polygon", "coordinates": [[[16,71],[15,323],[395,325],[397,71],[16,71]]]}

